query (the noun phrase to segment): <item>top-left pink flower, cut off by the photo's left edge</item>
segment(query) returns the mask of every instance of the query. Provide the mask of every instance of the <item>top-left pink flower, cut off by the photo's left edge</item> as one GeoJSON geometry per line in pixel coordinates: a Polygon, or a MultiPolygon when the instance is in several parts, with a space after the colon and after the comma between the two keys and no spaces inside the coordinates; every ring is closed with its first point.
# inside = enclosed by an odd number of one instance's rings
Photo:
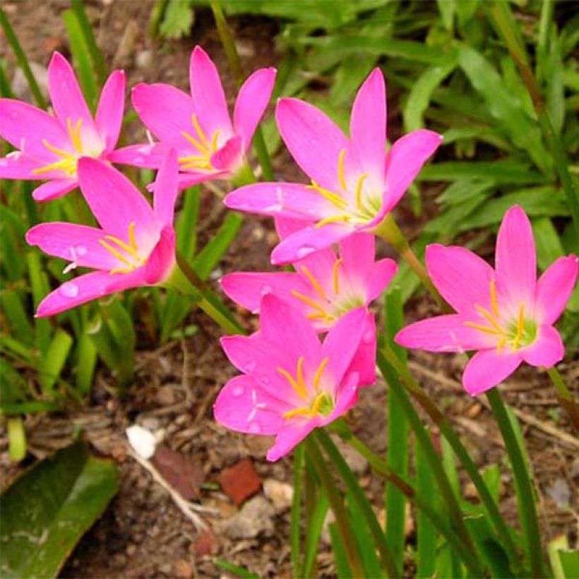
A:
{"type": "Polygon", "coordinates": [[[0,158],[0,178],[47,180],[32,193],[36,201],[75,189],[80,157],[110,159],[123,120],[125,76],[114,71],[107,78],[94,119],[71,65],[58,52],[48,66],[48,90],[56,117],[0,99],[0,136],[19,149],[0,158]]]}

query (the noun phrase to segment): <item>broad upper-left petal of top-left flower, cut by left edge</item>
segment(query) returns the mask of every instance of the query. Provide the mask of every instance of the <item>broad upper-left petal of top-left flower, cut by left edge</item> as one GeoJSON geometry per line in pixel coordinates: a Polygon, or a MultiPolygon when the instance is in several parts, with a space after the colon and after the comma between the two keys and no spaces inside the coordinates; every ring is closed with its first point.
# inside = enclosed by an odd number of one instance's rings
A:
{"type": "Polygon", "coordinates": [[[58,120],[19,100],[0,99],[0,136],[23,153],[47,162],[54,162],[56,155],[43,141],[71,150],[68,134],[58,120]]]}

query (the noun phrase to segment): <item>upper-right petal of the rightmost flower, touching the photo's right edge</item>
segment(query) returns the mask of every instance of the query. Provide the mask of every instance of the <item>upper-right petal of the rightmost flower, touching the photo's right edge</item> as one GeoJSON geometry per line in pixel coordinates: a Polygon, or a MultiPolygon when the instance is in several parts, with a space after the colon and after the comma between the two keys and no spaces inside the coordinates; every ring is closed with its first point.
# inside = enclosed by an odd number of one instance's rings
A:
{"type": "Polygon", "coordinates": [[[535,318],[555,323],[571,297],[579,271],[579,258],[560,257],[539,277],[535,292],[535,318]]]}

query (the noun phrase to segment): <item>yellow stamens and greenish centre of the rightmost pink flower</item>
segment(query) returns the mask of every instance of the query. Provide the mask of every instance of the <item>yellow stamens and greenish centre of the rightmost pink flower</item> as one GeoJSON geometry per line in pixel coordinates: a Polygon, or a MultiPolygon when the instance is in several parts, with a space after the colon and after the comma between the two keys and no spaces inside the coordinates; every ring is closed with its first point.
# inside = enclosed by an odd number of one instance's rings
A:
{"type": "Polygon", "coordinates": [[[496,301],[496,283],[491,280],[491,311],[475,304],[479,314],[488,322],[488,326],[474,322],[464,322],[465,326],[496,337],[496,352],[501,353],[505,346],[510,346],[512,352],[531,345],[537,338],[537,324],[530,318],[525,318],[525,304],[519,304],[515,318],[501,319],[499,305],[496,301]]]}

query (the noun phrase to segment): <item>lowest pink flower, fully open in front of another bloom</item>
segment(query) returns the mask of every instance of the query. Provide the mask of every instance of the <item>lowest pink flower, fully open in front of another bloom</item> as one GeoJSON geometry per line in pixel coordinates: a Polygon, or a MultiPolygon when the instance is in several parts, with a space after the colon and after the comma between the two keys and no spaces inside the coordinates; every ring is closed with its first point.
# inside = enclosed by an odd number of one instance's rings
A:
{"type": "Polygon", "coordinates": [[[350,311],[320,342],[300,311],[265,296],[261,330],[221,340],[244,374],[229,380],[217,396],[217,422],[238,432],[275,434],[268,460],[281,458],[312,430],[333,422],[357,402],[359,375],[351,362],[365,317],[362,308],[350,311]]]}

